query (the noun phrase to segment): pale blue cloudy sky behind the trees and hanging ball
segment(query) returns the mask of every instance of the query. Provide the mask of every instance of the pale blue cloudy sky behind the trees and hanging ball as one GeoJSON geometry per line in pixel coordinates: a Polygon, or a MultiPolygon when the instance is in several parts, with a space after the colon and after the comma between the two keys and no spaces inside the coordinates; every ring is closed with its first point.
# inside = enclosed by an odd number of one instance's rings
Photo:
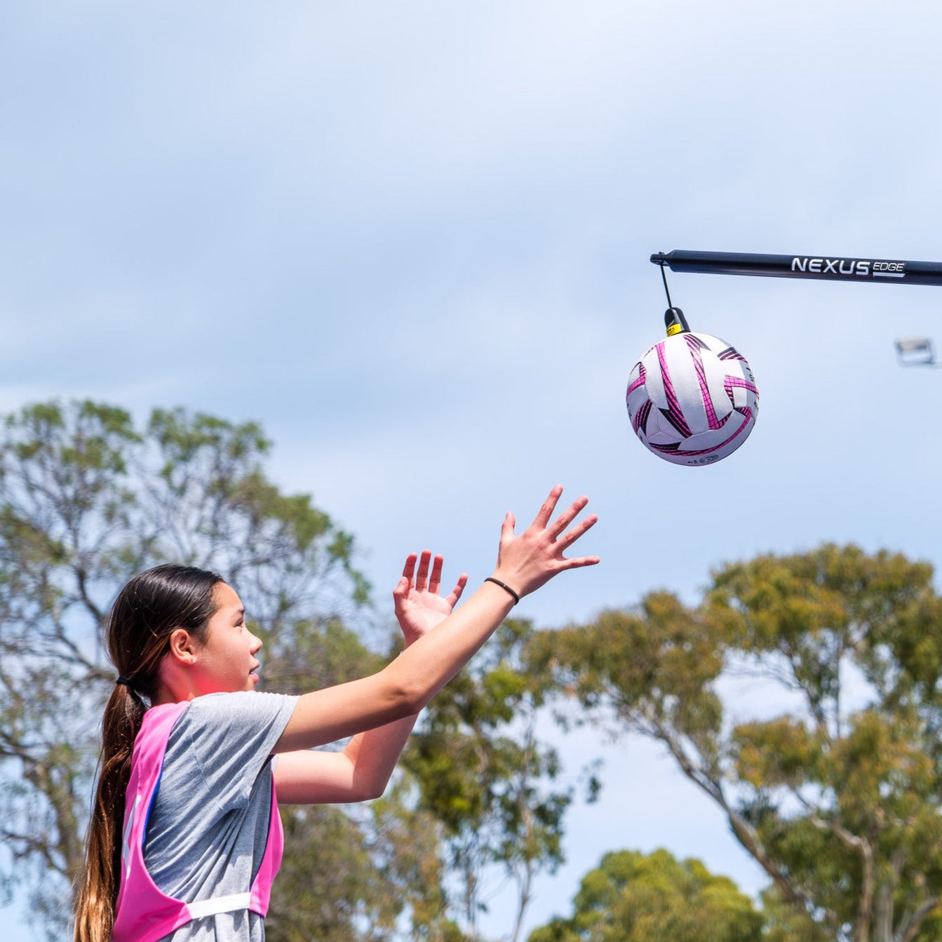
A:
{"type": "MultiPolygon", "coordinates": [[[[0,16],[0,411],[258,420],[272,477],[355,534],[387,613],[409,551],[473,585],[504,513],[526,525],[558,482],[589,495],[602,562],[524,600],[540,627],[692,602],[723,562],[824,541],[938,564],[942,374],[893,346],[933,335],[938,288],[669,275],[752,365],[755,430],[676,467],[625,412],[663,335],[652,252],[942,259],[929,0],[0,16]]],[[[574,775],[603,755],[606,789],[528,928],[609,850],[764,885],[655,747],[561,748],[574,775]]]]}

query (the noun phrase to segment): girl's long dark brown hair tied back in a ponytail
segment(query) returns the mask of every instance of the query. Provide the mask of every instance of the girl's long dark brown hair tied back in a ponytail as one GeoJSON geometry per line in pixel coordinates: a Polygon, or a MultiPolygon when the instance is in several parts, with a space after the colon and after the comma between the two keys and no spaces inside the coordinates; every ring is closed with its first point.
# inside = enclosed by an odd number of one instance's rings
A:
{"type": "Polygon", "coordinates": [[[74,942],[109,942],[121,883],[124,792],[131,752],[158,684],[160,661],[175,628],[203,640],[216,610],[213,590],[222,579],[192,566],[163,565],[131,579],[108,614],[108,657],[115,684],[102,721],[102,756],[86,843],[86,866],[75,902],[74,942]]]}

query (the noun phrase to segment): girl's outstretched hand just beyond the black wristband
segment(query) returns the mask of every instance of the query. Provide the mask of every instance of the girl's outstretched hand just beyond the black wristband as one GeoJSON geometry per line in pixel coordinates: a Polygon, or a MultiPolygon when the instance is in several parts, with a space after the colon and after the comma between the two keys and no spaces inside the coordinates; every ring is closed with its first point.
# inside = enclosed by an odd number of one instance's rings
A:
{"type": "Polygon", "coordinates": [[[500,547],[494,577],[506,582],[518,595],[528,595],[552,577],[566,569],[594,566],[597,556],[563,557],[563,552],[576,543],[580,536],[593,528],[598,517],[589,514],[574,527],[570,524],[589,503],[588,497],[579,497],[552,523],[549,522],[562,494],[557,484],[544,500],[533,523],[519,536],[514,535],[513,514],[508,513],[500,528],[500,547]]]}

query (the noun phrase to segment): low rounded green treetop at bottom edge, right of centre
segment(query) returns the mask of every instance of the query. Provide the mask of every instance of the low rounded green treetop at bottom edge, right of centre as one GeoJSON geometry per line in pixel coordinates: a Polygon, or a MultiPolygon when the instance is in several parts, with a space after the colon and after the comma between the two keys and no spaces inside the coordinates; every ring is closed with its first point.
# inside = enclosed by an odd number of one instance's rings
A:
{"type": "Polygon", "coordinates": [[[528,942],[760,942],[762,916],[728,877],[667,851],[607,853],[582,879],[570,918],[528,942]]]}

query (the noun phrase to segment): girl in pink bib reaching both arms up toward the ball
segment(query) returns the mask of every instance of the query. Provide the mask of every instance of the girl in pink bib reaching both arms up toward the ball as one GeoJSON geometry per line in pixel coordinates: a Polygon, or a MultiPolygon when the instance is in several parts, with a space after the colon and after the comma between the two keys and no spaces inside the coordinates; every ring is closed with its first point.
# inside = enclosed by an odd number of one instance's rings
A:
{"type": "Polygon", "coordinates": [[[561,493],[519,536],[508,513],[494,575],[453,614],[466,577],[443,597],[442,558],[411,555],[393,592],[405,650],[378,674],[300,697],[254,692],[262,642],[218,576],[166,565],[131,579],[106,627],[119,676],[75,942],[262,942],[282,853],[276,788],[289,804],[382,794],[418,712],[513,605],[598,562],[563,558],[596,517],[570,526],[580,497],[550,523],[561,493]],[[312,751],[347,737],[343,752],[312,751]]]}

